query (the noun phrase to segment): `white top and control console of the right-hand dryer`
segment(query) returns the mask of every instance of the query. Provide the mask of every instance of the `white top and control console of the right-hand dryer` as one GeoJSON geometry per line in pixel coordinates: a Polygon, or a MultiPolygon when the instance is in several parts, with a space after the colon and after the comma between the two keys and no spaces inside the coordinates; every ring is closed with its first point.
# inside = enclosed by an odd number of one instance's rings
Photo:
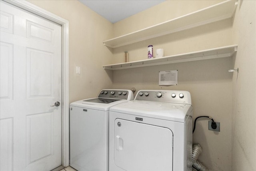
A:
{"type": "Polygon", "coordinates": [[[192,109],[191,97],[188,91],[141,90],[138,91],[135,100],[115,105],[110,108],[110,111],[184,122],[188,115],[191,114],[192,109]],[[160,96],[159,92],[162,93],[162,96],[160,96]],[[149,98],[146,97],[145,93],[149,98]],[[177,95],[172,97],[173,93],[177,95]],[[184,97],[180,97],[180,93],[184,97]],[[157,97],[157,95],[160,97],[157,97]]]}

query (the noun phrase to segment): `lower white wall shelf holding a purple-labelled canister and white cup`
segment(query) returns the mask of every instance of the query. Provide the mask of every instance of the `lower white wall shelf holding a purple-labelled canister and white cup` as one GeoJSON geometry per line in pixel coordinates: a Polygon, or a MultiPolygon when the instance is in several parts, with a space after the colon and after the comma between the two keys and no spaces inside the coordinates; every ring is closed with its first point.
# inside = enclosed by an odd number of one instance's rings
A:
{"type": "Polygon", "coordinates": [[[189,62],[197,60],[207,60],[215,58],[230,57],[237,51],[238,45],[224,46],[220,48],[202,50],[186,54],[178,54],[172,56],[165,56],[162,58],[146,59],[134,62],[126,62],[120,64],[112,64],[103,66],[106,70],[122,70],[127,68],[138,68],[144,66],[156,66],[163,64],[173,64],[178,62],[189,62]]]}

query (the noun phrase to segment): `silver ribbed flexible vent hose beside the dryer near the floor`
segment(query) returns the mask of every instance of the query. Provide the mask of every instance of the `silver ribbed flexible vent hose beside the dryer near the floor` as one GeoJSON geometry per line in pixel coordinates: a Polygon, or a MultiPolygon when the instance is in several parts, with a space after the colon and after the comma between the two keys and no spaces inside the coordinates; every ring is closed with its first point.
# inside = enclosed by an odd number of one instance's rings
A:
{"type": "Polygon", "coordinates": [[[207,169],[203,163],[198,161],[198,156],[202,153],[202,147],[199,144],[193,145],[193,152],[192,152],[192,166],[194,169],[198,171],[210,171],[207,169]]]}

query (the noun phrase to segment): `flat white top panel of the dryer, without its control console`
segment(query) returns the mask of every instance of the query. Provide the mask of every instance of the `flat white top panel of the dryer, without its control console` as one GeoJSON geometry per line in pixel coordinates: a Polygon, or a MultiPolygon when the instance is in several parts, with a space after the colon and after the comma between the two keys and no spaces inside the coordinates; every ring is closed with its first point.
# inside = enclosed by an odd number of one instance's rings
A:
{"type": "Polygon", "coordinates": [[[192,105],[156,101],[127,101],[110,107],[110,111],[184,122],[191,115],[192,105]]]}

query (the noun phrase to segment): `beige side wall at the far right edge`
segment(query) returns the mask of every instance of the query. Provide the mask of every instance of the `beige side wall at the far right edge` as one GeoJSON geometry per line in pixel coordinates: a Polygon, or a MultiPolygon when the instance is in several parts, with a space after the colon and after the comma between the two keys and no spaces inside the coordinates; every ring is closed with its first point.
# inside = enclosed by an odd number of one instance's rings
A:
{"type": "Polygon", "coordinates": [[[234,18],[232,171],[256,170],[256,1],[239,1],[234,18]]]}

